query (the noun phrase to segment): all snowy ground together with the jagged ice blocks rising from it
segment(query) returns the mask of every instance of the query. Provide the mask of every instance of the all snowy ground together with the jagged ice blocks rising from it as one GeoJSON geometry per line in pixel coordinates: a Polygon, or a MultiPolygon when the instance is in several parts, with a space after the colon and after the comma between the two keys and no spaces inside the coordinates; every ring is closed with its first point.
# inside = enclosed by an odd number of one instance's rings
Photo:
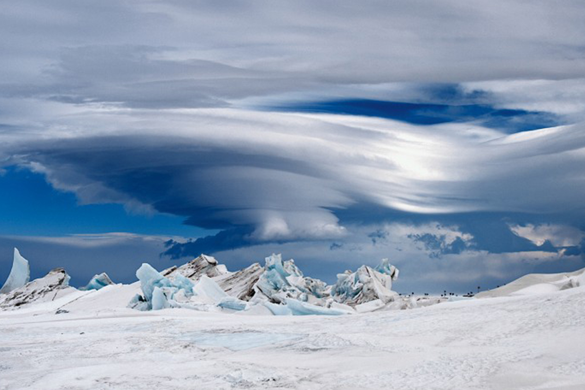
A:
{"type": "Polygon", "coordinates": [[[585,269],[457,301],[398,296],[387,260],[335,286],[278,255],[136,275],[0,294],[0,390],[585,388],[585,269]]]}

